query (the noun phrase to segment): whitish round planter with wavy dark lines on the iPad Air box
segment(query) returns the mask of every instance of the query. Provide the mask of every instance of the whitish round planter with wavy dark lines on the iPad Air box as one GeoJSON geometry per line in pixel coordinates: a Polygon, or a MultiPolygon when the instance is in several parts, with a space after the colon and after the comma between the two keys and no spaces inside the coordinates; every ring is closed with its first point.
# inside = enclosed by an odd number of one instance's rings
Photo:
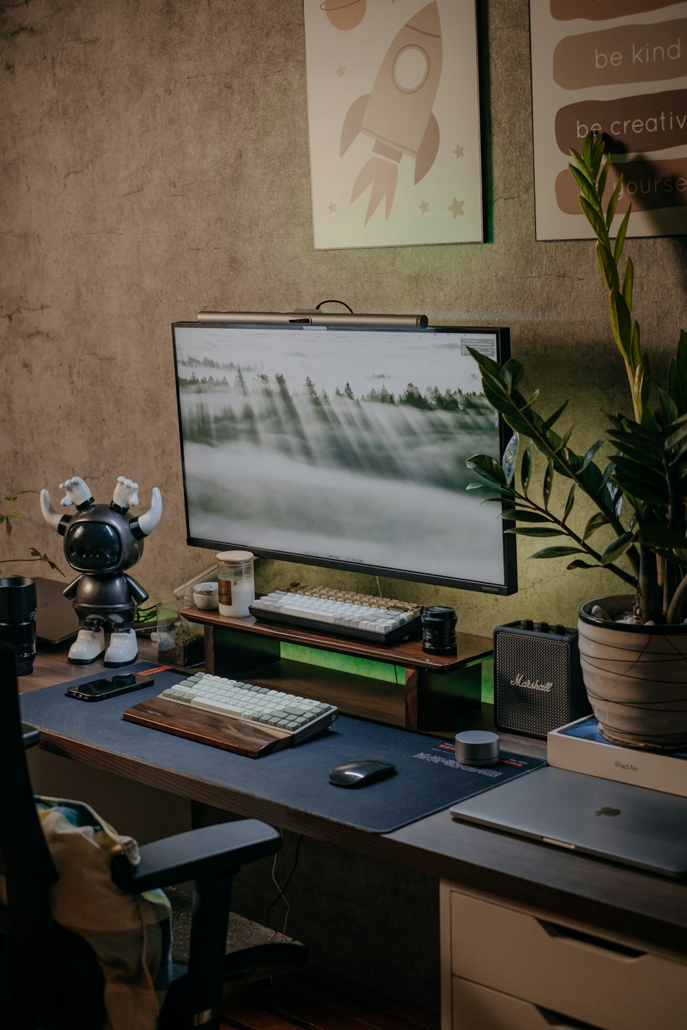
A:
{"type": "Polygon", "coordinates": [[[582,676],[598,728],[630,748],[687,746],[687,626],[598,622],[631,608],[624,595],[588,600],[579,611],[582,676]]]}

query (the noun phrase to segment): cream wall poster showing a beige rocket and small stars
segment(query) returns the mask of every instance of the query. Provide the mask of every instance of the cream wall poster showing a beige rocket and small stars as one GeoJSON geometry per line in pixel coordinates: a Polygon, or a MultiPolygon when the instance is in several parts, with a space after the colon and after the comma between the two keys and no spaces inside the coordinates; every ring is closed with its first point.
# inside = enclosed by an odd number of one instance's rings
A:
{"type": "Polygon", "coordinates": [[[316,249],[482,241],[475,0],[304,0],[316,249]]]}

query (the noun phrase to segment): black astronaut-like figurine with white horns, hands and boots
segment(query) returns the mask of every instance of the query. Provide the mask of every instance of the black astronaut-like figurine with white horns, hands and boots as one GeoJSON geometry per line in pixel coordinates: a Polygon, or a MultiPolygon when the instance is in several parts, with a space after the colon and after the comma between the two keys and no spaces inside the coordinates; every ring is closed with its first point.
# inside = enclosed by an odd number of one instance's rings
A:
{"type": "Polygon", "coordinates": [[[152,488],[150,508],[138,518],[127,515],[130,505],[138,504],[138,483],[119,476],[109,505],[97,505],[91,490],[78,476],[60,484],[65,496],[60,502],[75,505],[74,515],[56,511],[47,490],[41,490],[43,518],[64,537],[65,557],[79,574],[64,591],[72,600],[80,629],[69,649],[69,661],[89,665],[105,655],[111,668],[129,665],[138,657],[138,642],[133,629],[137,605],[148,594],[126,570],[135,565],[143,553],[143,540],[162,516],[162,494],[152,488]],[[105,629],[111,627],[105,651],[105,629]]]}

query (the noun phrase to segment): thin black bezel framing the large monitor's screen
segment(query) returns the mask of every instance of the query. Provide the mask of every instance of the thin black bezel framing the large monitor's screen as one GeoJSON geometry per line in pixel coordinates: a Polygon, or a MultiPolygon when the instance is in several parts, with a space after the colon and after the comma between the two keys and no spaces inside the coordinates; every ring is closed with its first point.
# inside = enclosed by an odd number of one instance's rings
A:
{"type": "MultiPolygon", "coordinates": [[[[500,363],[507,362],[510,357],[510,330],[507,327],[492,327],[492,325],[421,325],[421,324],[405,324],[400,325],[399,320],[394,321],[394,316],[388,316],[388,322],[383,322],[379,315],[373,316],[374,320],[371,319],[369,323],[362,320],[362,316],[355,316],[351,319],[351,322],[342,323],[342,317],[337,314],[336,319],[333,318],[331,322],[331,328],[336,330],[344,329],[346,332],[365,332],[369,329],[374,329],[377,332],[409,332],[409,333],[420,333],[422,335],[435,335],[442,333],[483,333],[489,334],[490,336],[495,336],[496,339],[496,359],[500,363]]],[[[328,328],[330,323],[322,324],[322,328],[328,328]]],[[[213,319],[201,319],[197,321],[175,321],[172,322],[172,352],[174,358],[174,385],[176,390],[176,406],[177,406],[177,424],[179,431],[179,450],[181,457],[181,476],[183,483],[183,508],[184,508],[184,518],[186,525],[186,544],[188,547],[199,547],[206,550],[214,550],[215,552],[226,551],[231,549],[238,550],[248,550],[251,551],[255,557],[268,558],[274,561],[285,561],[295,565],[313,565],[320,569],[331,569],[339,572],[346,573],[356,573],[358,575],[370,575],[375,577],[382,577],[394,580],[408,581],[412,583],[426,583],[433,586],[441,586],[449,589],[457,590],[471,590],[478,593],[488,593],[495,596],[508,596],[517,592],[517,561],[516,561],[516,538],[513,534],[506,533],[506,529],[513,525],[512,522],[504,520],[503,533],[502,533],[502,546],[503,546],[503,568],[504,568],[504,580],[503,584],[499,583],[481,583],[476,580],[465,580],[453,576],[439,576],[434,574],[419,573],[414,570],[402,570],[402,569],[391,569],[385,565],[374,565],[365,562],[355,561],[338,561],[331,558],[319,557],[317,555],[303,554],[291,551],[277,551],[270,550],[264,547],[255,547],[250,544],[247,540],[206,540],[205,538],[194,537],[191,534],[190,517],[188,517],[188,501],[186,492],[186,470],[185,470],[185,457],[184,457],[184,447],[183,447],[183,433],[181,427],[181,402],[179,396],[179,375],[177,367],[177,346],[176,346],[176,330],[177,329],[199,329],[199,330],[217,330],[217,329],[229,329],[232,331],[241,329],[252,329],[255,327],[275,327],[279,329],[286,329],[291,332],[303,332],[304,323],[302,321],[296,322],[294,319],[294,314],[271,314],[270,319],[265,319],[265,316],[260,314],[256,317],[252,317],[251,313],[246,312],[243,316],[239,312],[232,313],[231,319],[226,321],[218,321],[213,319]]],[[[500,460],[503,459],[503,455],[508,442],[513,436],[513,432],[510,426],[505,422],[503,416],[499,413],[499,443],[500,443],[500,460]]],[[[478,477],[476,476],[476,480],[478,477]]],[[[506,509],[506,505],[502,504],[502,511],[506,509]]]]}

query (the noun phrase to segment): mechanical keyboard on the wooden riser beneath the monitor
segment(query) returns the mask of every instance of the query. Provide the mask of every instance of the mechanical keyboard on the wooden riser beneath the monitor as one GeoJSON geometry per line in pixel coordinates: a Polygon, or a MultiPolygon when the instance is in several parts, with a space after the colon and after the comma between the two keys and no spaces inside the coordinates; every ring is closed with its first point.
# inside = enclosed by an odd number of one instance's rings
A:
{"type": "Polygon", "coordinates": [[[249,611],[266,622],[325,629],[338,637],[377,644],[398,644],[421,630],[416,605],[327,587],[273,590],[254,600],[249,611]]]}

